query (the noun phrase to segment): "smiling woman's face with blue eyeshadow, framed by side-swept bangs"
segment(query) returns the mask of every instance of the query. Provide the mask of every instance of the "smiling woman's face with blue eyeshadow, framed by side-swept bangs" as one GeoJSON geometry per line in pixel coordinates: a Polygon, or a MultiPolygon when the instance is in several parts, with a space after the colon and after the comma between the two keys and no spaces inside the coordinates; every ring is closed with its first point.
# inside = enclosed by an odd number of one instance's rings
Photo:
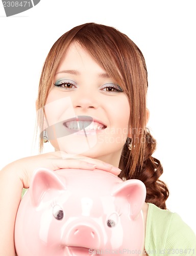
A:
{"type": "Polygon", "coordinates": [[[77,42],[55,74],[45,105],[45,128],[57,151],[119,162],[129,136],[130,106],[120,84],[77,42]],[[48,130],[49,131],[49,130],[48,130]]]}

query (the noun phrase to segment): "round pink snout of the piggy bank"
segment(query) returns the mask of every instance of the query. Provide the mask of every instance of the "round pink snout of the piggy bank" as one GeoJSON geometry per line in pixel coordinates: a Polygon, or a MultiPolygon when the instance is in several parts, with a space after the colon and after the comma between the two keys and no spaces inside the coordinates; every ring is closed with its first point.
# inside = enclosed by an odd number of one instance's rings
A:
{"type": "Polygon", "coordinates": [[[66,234],[66,246],[98,249],[100,244],[100,232],[89,224],[75,225],[66,234]]]}

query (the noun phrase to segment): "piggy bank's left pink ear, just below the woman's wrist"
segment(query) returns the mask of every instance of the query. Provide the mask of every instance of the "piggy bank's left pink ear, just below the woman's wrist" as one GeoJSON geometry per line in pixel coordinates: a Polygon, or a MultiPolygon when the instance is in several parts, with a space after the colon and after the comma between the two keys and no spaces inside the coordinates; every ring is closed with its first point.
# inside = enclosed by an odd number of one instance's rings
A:
{"type": "Polygon", "coordinates": [[[37,207],[46,193],[50,194],[53,191],[52,197],[54,197],[54,191],[64,190],[65,188],[65,184],[54,171],[38,168],[33,173],[29,187],[32,204],[37,207]]]}

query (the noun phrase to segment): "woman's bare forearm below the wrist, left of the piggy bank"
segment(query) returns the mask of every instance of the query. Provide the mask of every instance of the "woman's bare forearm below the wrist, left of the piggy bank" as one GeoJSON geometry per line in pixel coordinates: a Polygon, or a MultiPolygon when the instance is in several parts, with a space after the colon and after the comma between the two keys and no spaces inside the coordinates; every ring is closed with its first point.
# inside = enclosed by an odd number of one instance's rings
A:
{"type": "Polygon", "coordinates": [[[15,165],[0,172],[0,255],[15,256],[14,224],[23,184],[15,165]]]}

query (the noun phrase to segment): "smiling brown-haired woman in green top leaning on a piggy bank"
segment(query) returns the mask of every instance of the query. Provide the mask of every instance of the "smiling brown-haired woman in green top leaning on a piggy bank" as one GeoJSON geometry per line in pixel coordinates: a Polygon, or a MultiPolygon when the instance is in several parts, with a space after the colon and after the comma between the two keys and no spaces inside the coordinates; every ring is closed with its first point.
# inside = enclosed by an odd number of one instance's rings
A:
{"type": "Polygon", "coordinates": [[[43,66],[36,102],[40,152],[48,140],[55,152],[19,159],[1,171],[1,255],[15,255],[21,191],[40,166],[100,168],[122,179],[140,179],[147,191],[143,255],[196,253],[192,230],[166,210],[168,188],[159,180],[163,169],[152,157],[156,141],[146,128],[147,89],[141,51],[116,29],[84,24],[55,42],[43,66]]]}

